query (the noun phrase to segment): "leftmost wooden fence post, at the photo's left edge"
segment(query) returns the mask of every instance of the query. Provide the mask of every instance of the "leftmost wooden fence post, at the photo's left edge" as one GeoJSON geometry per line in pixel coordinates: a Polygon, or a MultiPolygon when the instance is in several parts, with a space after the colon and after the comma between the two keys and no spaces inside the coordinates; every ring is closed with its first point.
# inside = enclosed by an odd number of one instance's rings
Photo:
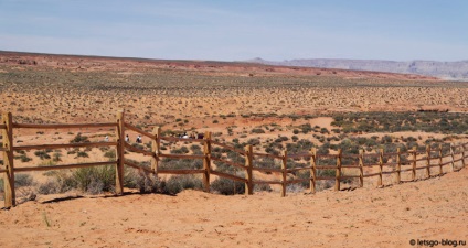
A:
{"type": "Polygon", "coordinates": [[[10,208],[17,205],[17,196],[14,193],[14,163],[13,163],[13,117],[11,112],[2,115],[3,125],[3,165],[7,172],[3,177],[4,207],[10,208]]]}

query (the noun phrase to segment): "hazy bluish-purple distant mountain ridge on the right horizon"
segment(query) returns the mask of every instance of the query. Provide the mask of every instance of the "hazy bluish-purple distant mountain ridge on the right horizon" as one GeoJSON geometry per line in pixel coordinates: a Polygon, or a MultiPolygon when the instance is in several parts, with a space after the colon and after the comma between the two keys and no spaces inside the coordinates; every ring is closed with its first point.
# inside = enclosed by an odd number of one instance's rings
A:
{"type": "Polygon", "coordinates": [[[468,80],[468,61],[396,62],[396,61],[379,61],[379,60],[313,58],[313,60],[291,60],[291,61],[274,62],[274,61],[264,61],[257,57],[254,60],[249,60],[248,62],[266,64],[266,65],[417,74],[417,75],[425,75],[425,76],[434,76],[442,79],[468,80]]]}

